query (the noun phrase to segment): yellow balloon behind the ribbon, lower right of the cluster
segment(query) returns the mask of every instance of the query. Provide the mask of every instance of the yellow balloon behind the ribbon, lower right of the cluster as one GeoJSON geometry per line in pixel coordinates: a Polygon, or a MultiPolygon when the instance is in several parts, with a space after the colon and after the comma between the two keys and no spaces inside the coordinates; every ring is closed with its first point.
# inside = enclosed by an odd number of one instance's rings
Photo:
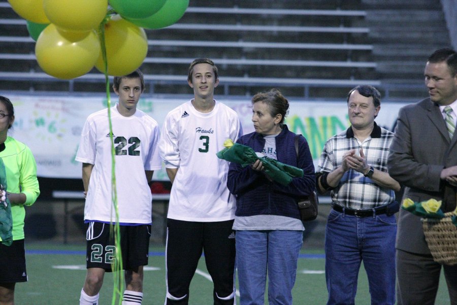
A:
{"type": "MultiPolygon", "coordinates": [[[[148,41],[144,29],[119,15],[105,25],[105,46],[108,62],[108,75],[123,76],[138,69],[148,52],[148,41]]],[[[95,64],[105,73],[102,53],[95,64]]]]}

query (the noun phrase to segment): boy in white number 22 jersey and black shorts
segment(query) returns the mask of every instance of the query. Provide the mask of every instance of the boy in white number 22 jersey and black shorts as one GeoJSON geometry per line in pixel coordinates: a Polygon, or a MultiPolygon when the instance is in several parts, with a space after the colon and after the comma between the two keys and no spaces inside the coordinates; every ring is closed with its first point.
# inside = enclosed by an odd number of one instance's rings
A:
{"type": "Polygon", "coordinates": [[[115,176],[121,233],[121,253],[126,290],[123,305],[141,304],[143,266],[148,264],[152,195],[148,182],[161,168],[157,143],[159,128],[149,115],[137,109],[144,90],[143,74],[136,70],[114,77],[119,102],[111,108],[113,133],[107,109],[89,115],[76,154],[82,162],[86,194],[84,221],[87,224],[87,276],[80,305],[98,304],[105,272],[111,272],[115,253],[110,222],[115,222],[112,203],[111,138],[115,146],[115,176]]]}

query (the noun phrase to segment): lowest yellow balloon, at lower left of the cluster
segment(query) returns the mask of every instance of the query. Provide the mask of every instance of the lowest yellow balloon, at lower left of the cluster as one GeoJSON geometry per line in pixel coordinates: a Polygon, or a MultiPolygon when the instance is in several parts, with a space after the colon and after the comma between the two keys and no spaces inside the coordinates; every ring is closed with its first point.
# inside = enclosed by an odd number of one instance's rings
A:
{"type": "Polygon", "coordinates": [[[54,24],[49,24],[38,37],[35,55],[47,74],[71,79],[89,72],[100,54],[100,41],[94,31],[81,40],[63,37],[54,24]]]}

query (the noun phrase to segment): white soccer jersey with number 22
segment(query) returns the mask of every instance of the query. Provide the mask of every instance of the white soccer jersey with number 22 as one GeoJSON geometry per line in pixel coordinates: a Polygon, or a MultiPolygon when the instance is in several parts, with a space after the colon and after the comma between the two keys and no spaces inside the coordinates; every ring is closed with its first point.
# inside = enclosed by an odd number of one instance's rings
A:
{"type": "MultiPolygon", "coordinates": [[[[117,105],[116,105],[117,106],[117,105]]],[[[141,110],[126,117],[111,108],[115,173],[120,223],[149,224],[152,195],[145,170],[161,168],[157,122],[141,110]]],[[[93,164],[84,207],[84,220],[116,221],[111,195],[111,140],[108,110],[87,117],[76,161],[93,164]]]]}

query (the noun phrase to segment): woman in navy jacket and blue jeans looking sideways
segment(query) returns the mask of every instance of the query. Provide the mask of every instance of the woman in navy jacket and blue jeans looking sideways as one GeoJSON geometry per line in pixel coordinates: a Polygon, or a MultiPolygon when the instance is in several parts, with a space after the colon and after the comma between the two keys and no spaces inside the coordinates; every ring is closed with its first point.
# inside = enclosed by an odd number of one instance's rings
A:
{"type": "Polygon", "coordinates": [[[237,142],[279,162],[303,169],[304,176],[288,186],[274,182],[261,161],[241,167],[230,164],[228,189],[237,197],[233,229],[241,304],[263,304],[268,270],[270,304],[292,304],[297,260],[304,227],[297,201],[315,187],[314,165],[308,142],[283,124],[289,103],[278,89],[252,98],[255,132],[237,142]]]}

